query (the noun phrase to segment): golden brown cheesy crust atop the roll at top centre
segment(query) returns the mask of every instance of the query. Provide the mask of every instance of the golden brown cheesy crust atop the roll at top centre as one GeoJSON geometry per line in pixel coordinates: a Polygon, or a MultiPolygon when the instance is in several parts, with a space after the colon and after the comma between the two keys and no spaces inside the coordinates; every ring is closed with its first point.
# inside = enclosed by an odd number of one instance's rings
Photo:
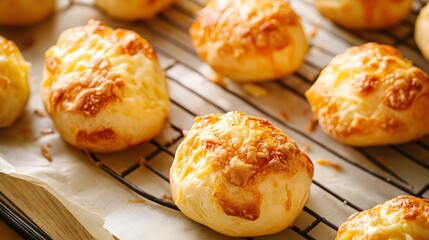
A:
{"type": "MultiPolygon", "coordinates": [[[[224,44],[219,54],[241,57],[246,54],[270,54],[290,42],[287,26],[299,25],[298,16],[284,1],[261,1],[258,8],[241,11],[250,18],[243,21],[236,11],[237,4],[209,1],[189,30],[196,46],[216,42],[221,36],[224,44]],[[231,34],[233,33],[233,34],[231,34]],[[239,34],[234,34],[239,33],[239,34]]],[[[243,2],[245,4],[245,2],[243,2]]],[[[201,48],[204,59],[208,49],[201,48]]]]}

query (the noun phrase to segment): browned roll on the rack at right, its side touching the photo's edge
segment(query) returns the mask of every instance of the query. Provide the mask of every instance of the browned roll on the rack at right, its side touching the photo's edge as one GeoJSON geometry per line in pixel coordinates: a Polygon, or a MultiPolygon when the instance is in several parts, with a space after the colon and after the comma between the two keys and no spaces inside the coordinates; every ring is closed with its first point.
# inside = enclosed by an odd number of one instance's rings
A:
{"type": "Polygon", "coordinates": [[[391,46],[349,48],[305,95],[322,128],[346,144],[397,144],[429,133],[429,77],[391,46]]]}

